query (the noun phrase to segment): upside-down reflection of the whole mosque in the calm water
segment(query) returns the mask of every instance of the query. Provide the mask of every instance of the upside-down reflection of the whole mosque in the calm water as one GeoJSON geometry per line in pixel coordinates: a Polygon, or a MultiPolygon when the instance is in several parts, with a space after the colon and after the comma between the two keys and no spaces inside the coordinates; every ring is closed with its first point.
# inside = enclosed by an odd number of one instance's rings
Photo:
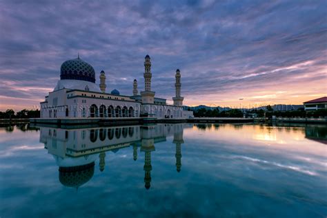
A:
{"type": "Polygon", "coordinates": [[[40,141],[54,156],[59,166],[59,181],[64,186],[75,187],[86,184],[95,172],[95,161],[99,159],[99,170],[106,166],[106,152],[117,152],[132,146],[132,157],[137,160],[137,151],[144,152],[144,183],[146,189],[151,182],[151,152],[155,143],[166,141],[172,135],[176,144],[176,168],[181,171],[181,144],[183,129],[188,124],[159,124],[153,126],[123,126],[88,129],[61,129],[41,127],[40,141]]]}

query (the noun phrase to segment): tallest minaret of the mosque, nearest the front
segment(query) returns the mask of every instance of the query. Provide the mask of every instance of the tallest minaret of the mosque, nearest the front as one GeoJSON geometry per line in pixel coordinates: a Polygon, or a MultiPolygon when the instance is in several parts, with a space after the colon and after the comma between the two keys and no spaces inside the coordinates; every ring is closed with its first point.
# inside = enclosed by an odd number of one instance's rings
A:
{"type": "Polygon", "coordinates": [[[146,54],[146,61],[144,61],[144,91],[141,92],[142,103],[154,103],[155,92],[151,91],[151,61],[149,54],[146,54]]]}

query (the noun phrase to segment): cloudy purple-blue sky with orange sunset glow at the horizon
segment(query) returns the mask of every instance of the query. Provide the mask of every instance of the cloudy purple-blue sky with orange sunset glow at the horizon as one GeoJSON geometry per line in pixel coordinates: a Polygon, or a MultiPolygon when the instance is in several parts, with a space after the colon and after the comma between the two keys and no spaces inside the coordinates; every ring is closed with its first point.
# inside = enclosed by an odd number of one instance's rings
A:
{"type": "Polygon", "coordinates": [[[63,61],[106,72],[107,91],[184,105],[301,104],[327,94],[327,1],[0,1],[0,110],[39,106],[63,61]]]}

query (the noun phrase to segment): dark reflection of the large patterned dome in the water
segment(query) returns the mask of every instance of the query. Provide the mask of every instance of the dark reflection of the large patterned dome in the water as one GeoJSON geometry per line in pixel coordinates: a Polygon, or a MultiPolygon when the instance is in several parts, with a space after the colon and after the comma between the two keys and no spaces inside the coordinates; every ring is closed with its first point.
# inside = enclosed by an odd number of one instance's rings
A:
{"type": "Polygon", "coordinates": [[[95,173],[95,162],[82,166],[59,167],[59,181],[63,186],[78,188],[86,184],[95,173]]]}

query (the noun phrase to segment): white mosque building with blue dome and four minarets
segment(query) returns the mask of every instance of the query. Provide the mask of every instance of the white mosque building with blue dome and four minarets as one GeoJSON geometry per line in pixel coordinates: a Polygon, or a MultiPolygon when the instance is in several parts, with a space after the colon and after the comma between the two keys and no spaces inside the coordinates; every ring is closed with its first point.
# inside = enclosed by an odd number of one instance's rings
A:
{"type": "Polygon", "coordinates": [[[176,95],[174,104],[155,97],[151,90],[151,61],[146,55],[144,61],[145,90],[140,94],[137,80],[134,80],[132,95],[120,95],[114,89],[106,92],[106,75],[100,73],[99,86],[95,83],[95,70],[79,57],[62,63],[60,80],[45,101],[41,102],[41,119],[94,119],[120,117],[156,117],[157,119],[186,119],[192,111],[183,110],[181,97],[181,73],[176,70],[176,95]]]}

